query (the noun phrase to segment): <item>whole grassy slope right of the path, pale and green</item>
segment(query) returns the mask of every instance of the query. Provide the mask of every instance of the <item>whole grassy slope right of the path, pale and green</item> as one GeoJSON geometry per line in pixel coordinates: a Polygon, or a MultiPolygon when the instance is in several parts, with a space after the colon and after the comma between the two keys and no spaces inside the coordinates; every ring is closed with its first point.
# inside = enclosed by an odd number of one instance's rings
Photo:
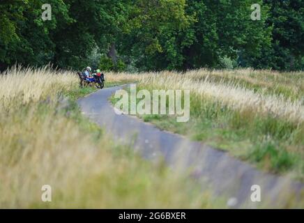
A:
{"type": "Polygon", "coordinates": [[[229,151],[261,169],[303,180],[303,79],[304,72],[250,69],[154,73],[142,77],[137,90],[190,90],[190,121],[177,123],[175,116],[139,117],[229,151]]]}

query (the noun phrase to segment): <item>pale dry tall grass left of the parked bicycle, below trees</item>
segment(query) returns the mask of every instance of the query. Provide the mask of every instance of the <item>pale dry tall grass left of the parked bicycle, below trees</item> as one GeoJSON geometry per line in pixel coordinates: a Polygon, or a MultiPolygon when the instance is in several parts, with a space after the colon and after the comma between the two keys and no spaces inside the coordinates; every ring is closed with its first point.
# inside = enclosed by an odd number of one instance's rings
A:
{"type": "Polygon", "coordinates": [[[75,89],[79,82],[74,72],[15,66],[0,75],[0,83],[1,105],[8,107],[15,99],[27,103],[54,97],[62,91],[75,89]]]}

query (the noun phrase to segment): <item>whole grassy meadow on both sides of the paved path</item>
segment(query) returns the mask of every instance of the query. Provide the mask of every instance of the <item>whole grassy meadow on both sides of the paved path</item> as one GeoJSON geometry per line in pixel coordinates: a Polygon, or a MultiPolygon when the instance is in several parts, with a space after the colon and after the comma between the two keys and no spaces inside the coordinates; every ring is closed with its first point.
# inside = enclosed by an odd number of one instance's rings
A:
{"type": "MultiPolygon", "coordinates": [[[[141,118],[261,169],[303,178],[303,73],[195,70],[105,77],[106,86],[190,89],[188,123],[176,123],[174,116],[141,118]]],[[[143,160],[84,118],[76,100],[93,91],[79,89],[76,73],[68,70],[15,67],[0,75],[0,208],[227,208],[227,198],[213,197],[208,185],[202,191],[187,170],[143,160]],[[43,185],[51,185],[52,202],[41,200],[43,185]]]]}

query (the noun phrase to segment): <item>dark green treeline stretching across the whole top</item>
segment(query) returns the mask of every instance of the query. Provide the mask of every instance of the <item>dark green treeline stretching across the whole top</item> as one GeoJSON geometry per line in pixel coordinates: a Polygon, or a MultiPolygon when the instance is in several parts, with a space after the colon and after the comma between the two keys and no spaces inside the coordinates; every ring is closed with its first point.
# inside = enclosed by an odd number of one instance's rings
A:
{"type": "Polygon", "coordinates": [[[1,70],[304,68],[303,0],[0,0],[0,12],[1,70]]]}

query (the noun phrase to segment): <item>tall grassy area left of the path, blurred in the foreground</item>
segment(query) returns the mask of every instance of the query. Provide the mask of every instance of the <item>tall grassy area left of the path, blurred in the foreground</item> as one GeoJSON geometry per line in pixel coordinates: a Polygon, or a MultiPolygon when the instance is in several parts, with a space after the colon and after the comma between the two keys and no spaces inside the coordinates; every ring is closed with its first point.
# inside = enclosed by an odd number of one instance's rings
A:
{"type": "MultiPolygon", "coordinates": [[[[106,76],[108,85],[137,77],[106,76]]],[[[76,98],[92,91],[68,71],[0,75],[0,208],[225,208],[82,117],[76,98]],[[41,201],[42,185],[52,202],[41,201]]]]}

